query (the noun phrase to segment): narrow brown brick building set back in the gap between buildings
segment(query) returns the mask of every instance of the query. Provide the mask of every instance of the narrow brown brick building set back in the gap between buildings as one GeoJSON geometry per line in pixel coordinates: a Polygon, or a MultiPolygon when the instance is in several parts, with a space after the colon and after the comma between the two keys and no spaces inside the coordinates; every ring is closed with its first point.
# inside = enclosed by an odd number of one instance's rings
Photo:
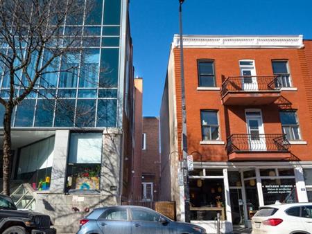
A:
{"type": "Polygon", "coordinates": [[[128,199],[153,201],[159,199],[159,118],[142,116],[143,79],[135,79],[134,87],[134,141],[131,171],[128,173],[130,192],[128,199]]]}

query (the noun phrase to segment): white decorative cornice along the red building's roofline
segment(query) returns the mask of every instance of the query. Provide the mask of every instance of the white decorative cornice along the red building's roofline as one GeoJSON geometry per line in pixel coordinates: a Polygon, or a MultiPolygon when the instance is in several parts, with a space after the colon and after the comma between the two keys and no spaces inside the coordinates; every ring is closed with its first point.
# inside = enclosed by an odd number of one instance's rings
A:
{"type": "MultiPolygon", "coordinates": [[[[179,35],[173,37],[173,47],[180,45],[179,35]]],[[[185,48],[303,48],[303,36],[213,36],[183,35],[185,48]]]]}

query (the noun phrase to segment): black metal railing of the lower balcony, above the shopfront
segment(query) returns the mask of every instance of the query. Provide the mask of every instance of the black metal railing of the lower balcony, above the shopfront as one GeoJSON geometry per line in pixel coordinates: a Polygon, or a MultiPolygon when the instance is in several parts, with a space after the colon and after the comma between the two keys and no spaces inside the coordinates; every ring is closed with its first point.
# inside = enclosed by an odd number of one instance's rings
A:
{"type": "Polygon", "coordinates": [[[227,154],[232,152],[288,152],[286,134],[232,134],[227,138],[227,154]]]}

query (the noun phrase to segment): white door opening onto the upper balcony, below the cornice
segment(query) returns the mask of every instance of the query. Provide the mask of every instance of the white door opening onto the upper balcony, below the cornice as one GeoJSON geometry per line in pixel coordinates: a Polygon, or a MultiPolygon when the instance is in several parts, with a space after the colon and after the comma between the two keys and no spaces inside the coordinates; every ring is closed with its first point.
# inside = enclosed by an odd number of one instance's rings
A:
{"type": "Polygon", "coordinates": [[[257,91],[258,82],[256,76],[256,69],[254,68],[253,60],[241,60],[239,61],[239,67],[241,69],[242,89],[245,91],[257,91]]]}

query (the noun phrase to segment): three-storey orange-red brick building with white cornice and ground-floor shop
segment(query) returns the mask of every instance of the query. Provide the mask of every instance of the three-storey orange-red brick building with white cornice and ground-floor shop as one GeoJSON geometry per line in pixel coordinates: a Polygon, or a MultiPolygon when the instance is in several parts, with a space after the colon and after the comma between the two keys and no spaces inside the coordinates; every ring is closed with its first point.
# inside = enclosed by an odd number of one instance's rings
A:
{"type": "MultiPolygon", "coordinates": [[[[191,222],[250,226],[259,206],[312,201],[312,42],[302,36],[185,36],[191,222]]],[[[180,49],[160,114],[162,193],[184,219],[180,49]]]]}

